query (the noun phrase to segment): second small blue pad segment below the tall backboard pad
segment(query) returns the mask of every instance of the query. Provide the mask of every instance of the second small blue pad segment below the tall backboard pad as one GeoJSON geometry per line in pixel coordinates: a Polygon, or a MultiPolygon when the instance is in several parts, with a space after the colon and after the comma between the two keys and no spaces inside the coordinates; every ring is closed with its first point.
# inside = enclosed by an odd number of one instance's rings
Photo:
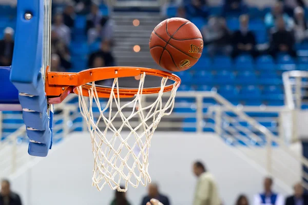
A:
{"type": "Polygon", "coordinates": [[[49,129],[49,119],[46,112],[23,111],[23,119],[27,127],[42,131],[49,129]]]}

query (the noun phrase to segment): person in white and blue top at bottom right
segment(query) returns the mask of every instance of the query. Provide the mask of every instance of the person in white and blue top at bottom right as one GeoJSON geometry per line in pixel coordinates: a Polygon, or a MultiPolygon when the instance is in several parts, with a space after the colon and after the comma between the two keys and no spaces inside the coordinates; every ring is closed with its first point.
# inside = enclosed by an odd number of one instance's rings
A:
{"type": "Polygon", "coordinates": [[[272,191],[273,179],[266,177],[264,179],[264,192],[255,195],[254,205],[284,205],[284,198],[280,194],[276,194],[272,191]]]}

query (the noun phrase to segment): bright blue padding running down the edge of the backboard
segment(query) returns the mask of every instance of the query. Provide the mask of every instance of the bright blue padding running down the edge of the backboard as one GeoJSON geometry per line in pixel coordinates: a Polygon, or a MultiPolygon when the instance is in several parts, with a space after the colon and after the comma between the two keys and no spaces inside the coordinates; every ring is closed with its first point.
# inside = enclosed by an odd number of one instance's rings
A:
{"type": "MultiPolygon", "coordinates": [[[[30,139],[28,153],[46,156],[51,147],[51,130],[47,114],[44,80],[40,70],[43,66],[44,1],[27,0],[17,2],[16,35],[10,80],[20,93],[34,97],[20,96],[23,108],[39,112],[23,111],[26,127],[39,131],[27,131],[30,139]],[[25,13],[31,13],[30,20],[25,13]]],[[[47,66],[47,65],[45,65],[47,66]]],[[[45,69],[45,68],[43,68],[45,69]]]]}

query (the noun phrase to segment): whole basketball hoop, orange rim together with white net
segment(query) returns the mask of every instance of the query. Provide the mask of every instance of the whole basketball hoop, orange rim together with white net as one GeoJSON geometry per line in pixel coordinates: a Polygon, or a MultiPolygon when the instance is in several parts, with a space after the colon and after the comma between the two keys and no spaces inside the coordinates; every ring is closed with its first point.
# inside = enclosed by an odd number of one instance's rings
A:
{"type": "Polygon", "coordinates": [[[79,73],[48,72],[46,75],[46,94],[50,104],[61,103],[67,94],[79,95],[79,107],[86,120],[91,136],[94,168],[92,185],[101,191],[106,185],[113,190],[125,192],[127,186],[137,188],[139,183],[146,186],[151,182],[148,173],[148,154],[151,138],[161,118],[170,115],[174,108],[176,91],[181,79],[171,73],[136,67],[107,67],[88,69],[79,73]],[[141,75],[137,89],[119,88],[120,77],[141,75]],[[162,77],[161,86],[144,88],[146,75],[162,77]],[[114,78],[112,87],[95,85],[94,81],[114,78]],[[166,85],[171,79],[175,83],[166,85]],[[165,92],[169,98],[163,103],[165,92]],[[157,99],[150,105],[142,105],[143,94],[157,94],[157,99]],[[131,98],[121,105],[122,98],[131,98]],[[100,98],[108,100],[100,101],[100,98]],[[112,105],[115,104],[112,107],[112,105]],[[93,113],[96,106],[99,115],[93,113]],[[124,114],[123,110],[126,111],[124,114]],[[121,118],[122,125],[114,126],[116,117],[121,118]],[[130,120],[138,119],[137,126],[130,120]],[[101,126],[103,122],[105,126],[101,126]],[[129,133],[121,135],[123,128],[129,133]],[[121,189],[120,184],[125,184],[121,189]]]}

